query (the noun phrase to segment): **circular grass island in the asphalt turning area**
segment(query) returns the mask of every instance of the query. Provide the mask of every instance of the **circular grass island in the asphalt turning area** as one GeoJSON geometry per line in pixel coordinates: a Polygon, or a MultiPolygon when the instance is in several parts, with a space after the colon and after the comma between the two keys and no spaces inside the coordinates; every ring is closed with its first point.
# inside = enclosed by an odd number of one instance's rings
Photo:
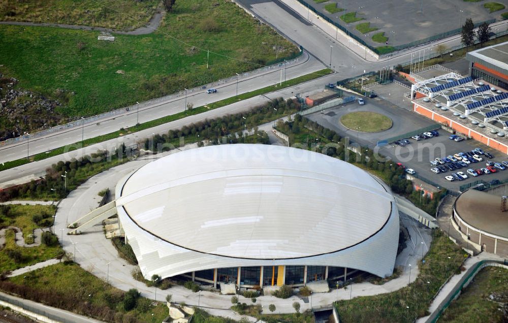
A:
{"type": "Polygon", "coordinates": [[[385,131],[390,129],[393,124],[392,119],[386,115],[369,111],[344,114],[340,118],[340,123],[348,129],[362,133],[378,133],[385,131]]]}

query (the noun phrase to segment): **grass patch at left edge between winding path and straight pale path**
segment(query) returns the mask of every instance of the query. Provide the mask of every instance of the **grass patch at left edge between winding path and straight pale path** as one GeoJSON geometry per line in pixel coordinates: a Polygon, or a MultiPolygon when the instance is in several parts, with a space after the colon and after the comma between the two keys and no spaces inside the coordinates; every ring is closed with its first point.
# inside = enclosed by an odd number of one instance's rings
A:
{"type": "Polygon", "coordinates": [[[60,246],[48,247],[44,244],[38,247],[19,247],[14,241],[14,231],[8,230],[6,232],[5,247],[0,250],[0,273],[52,259],[60,255],[61,251],[60,246]],[[19,251],[20,259],[18,261],[12,259],[8,254],[9,251],[19,251]]]}

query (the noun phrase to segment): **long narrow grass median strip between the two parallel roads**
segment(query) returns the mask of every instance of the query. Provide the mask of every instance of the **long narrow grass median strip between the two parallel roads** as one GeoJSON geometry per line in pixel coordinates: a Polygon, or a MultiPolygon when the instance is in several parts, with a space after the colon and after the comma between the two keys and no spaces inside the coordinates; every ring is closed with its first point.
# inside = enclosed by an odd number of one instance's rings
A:
{"type": "MultiPolygon", "coordinates": [[[[325,76],[325,75],[328,75],[328,74],[331,74],[331,73],[333,73],[332,70],[330,70],[330,69],[324,69],[324,70],[316,71],[314,73],[302,75],[302,76],[299,76],[297,78],[294,78],[294,79],[291,79],[291,80],[288,80],[288,81],[284,81],[282,83],[277,83],[277,84],[274,84],[274,85],[269,85],[269,86],[266,86],[266,87],[263,87],[263,88],[260,88],[260,89],[257,89],[257,90],[253,90],[253,91],[250,91],[250,92],[239,94],[238,96],[233,96],[231,98],[227,98],[227,99],[224,99],[224,100],[216,101],[216,102],[213,102],[213,103],[211,103],[209,105],[206,105],[206,106],[196,107],[196,108],[194,108],[194,109],[192,109],[190,111],[187,110],[187,111],[184,111],[184,112],[179,112],[179,113],[176,113],[176,114],[172,114],[172,115],[169,115],[169,116],[165,116],[165,117],[162,117],[162,118],[158,118],[158,119],[155,119],[155,120],[151,120],[151,121],[147,121],[147,122],[141,123],[141,124],[139,124],[137,126],[133,126],[133,127],[129,128],[129,129],[119,130],[119,131],[115,131],[113,133],[109,133],[109,134],[106,134],[106,135],[102,135],[102,136],[98,136],[98,137],[94,137],[94,138],[89,138],[89,139],[84,140],[83,145],[84,146],[89,146],[89,145],[96,144],[96,143],[99,143],[99,142],[103,142],[103,141],[106,141],[106,140],[118,138],[118,137],[124,136],[126,134],[130,134],[132,132],[137,132],[137,131],[141,131],[141,130],[144,130],[144,129],[147,129],[147,128],[150,128],[150,127],[154,127],[156,125],[168,123],[168,122],[171,122],[171,121],[174,121],[174,120],[178,120],[178,119],[187,117],[189,115],[199,114],[199,113],[208,111],[210,109],[216,109],[216,108],[224,107],[226,105],[229,105],[229,104],[241,101],[241,100],[246,100],[246,99],[249,99],[249,98],[253,98],[254,96],[257,96],[257,95],[269,93],[269,92],[272,92],[272,91],[275,91],[275,90],[280,90],[280,89],[283,89],[283,88],[286,88],[286,87],[289,87],[289,86],[293,86],[293,85],[296,85],[296,84],[307,82],[307,81],[310,81],[310,80],[313,80],[313,79],[316,79],[316,78],[319,78],[319,77],[322,77],[322,76],[325,76]]],[[[52,157],[52,156],[60,155],[62,153],[73,151],[73,150],[79,149],[81,147],[82,147],[81,142],[78,142],[78,143],[75,143],[75,144],[71,144],[71,145],[55,148],[55,149],[51,150],[49,153],[42,152],[42,153],[30,156],[30,159],[21,158],[21,159],[16,159],[16,160],[8,161],[7,163],[4,163],[4,165],[0,165],[0,171],[4,171],[4,170],[11,169],[11,168],[14,168],[14,167],[18,167],[18,166],[21,166],[21,165],[24,165],[24,164],[28,164],[28,163],[30,163],[30,161],[38,161],[38,160],[43,160],[43,159],[46,159],[46,158],[49,158],[49,157],[52,157]]],[[[42,196],[42,198],[51,199],[51,197],[49,196],[50,193],[46,192],[46,194],[48,195],[48,197],[42,196]]]]}

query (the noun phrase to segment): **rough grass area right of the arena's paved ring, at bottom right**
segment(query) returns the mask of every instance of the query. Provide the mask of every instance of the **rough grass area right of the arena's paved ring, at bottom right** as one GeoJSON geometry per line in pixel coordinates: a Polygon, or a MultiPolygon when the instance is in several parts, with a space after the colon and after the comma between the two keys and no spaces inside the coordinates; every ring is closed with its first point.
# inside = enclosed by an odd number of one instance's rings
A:
{"type": "Polygon", "coordinates": [[[432,236],[425,264],[418,265],[420,275],[416,281],[396,292],[335,303],[340,321],[413,322],[416,317],[427,315],[439,287],[459,271],[465,259],[465,253],[441,231],[433,230],[432,236]]]}

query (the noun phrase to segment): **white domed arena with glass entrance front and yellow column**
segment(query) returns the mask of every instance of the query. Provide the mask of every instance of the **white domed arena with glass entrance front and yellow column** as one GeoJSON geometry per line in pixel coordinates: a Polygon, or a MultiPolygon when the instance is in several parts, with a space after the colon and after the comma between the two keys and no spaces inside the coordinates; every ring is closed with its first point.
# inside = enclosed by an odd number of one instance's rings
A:
{"type": "Polygon", "coordinates": [[[217,145],[152,161],[116,187],[145,278],[304,285],[393,273],[399,216],[367,172],[324,154],[217,145]]]}

